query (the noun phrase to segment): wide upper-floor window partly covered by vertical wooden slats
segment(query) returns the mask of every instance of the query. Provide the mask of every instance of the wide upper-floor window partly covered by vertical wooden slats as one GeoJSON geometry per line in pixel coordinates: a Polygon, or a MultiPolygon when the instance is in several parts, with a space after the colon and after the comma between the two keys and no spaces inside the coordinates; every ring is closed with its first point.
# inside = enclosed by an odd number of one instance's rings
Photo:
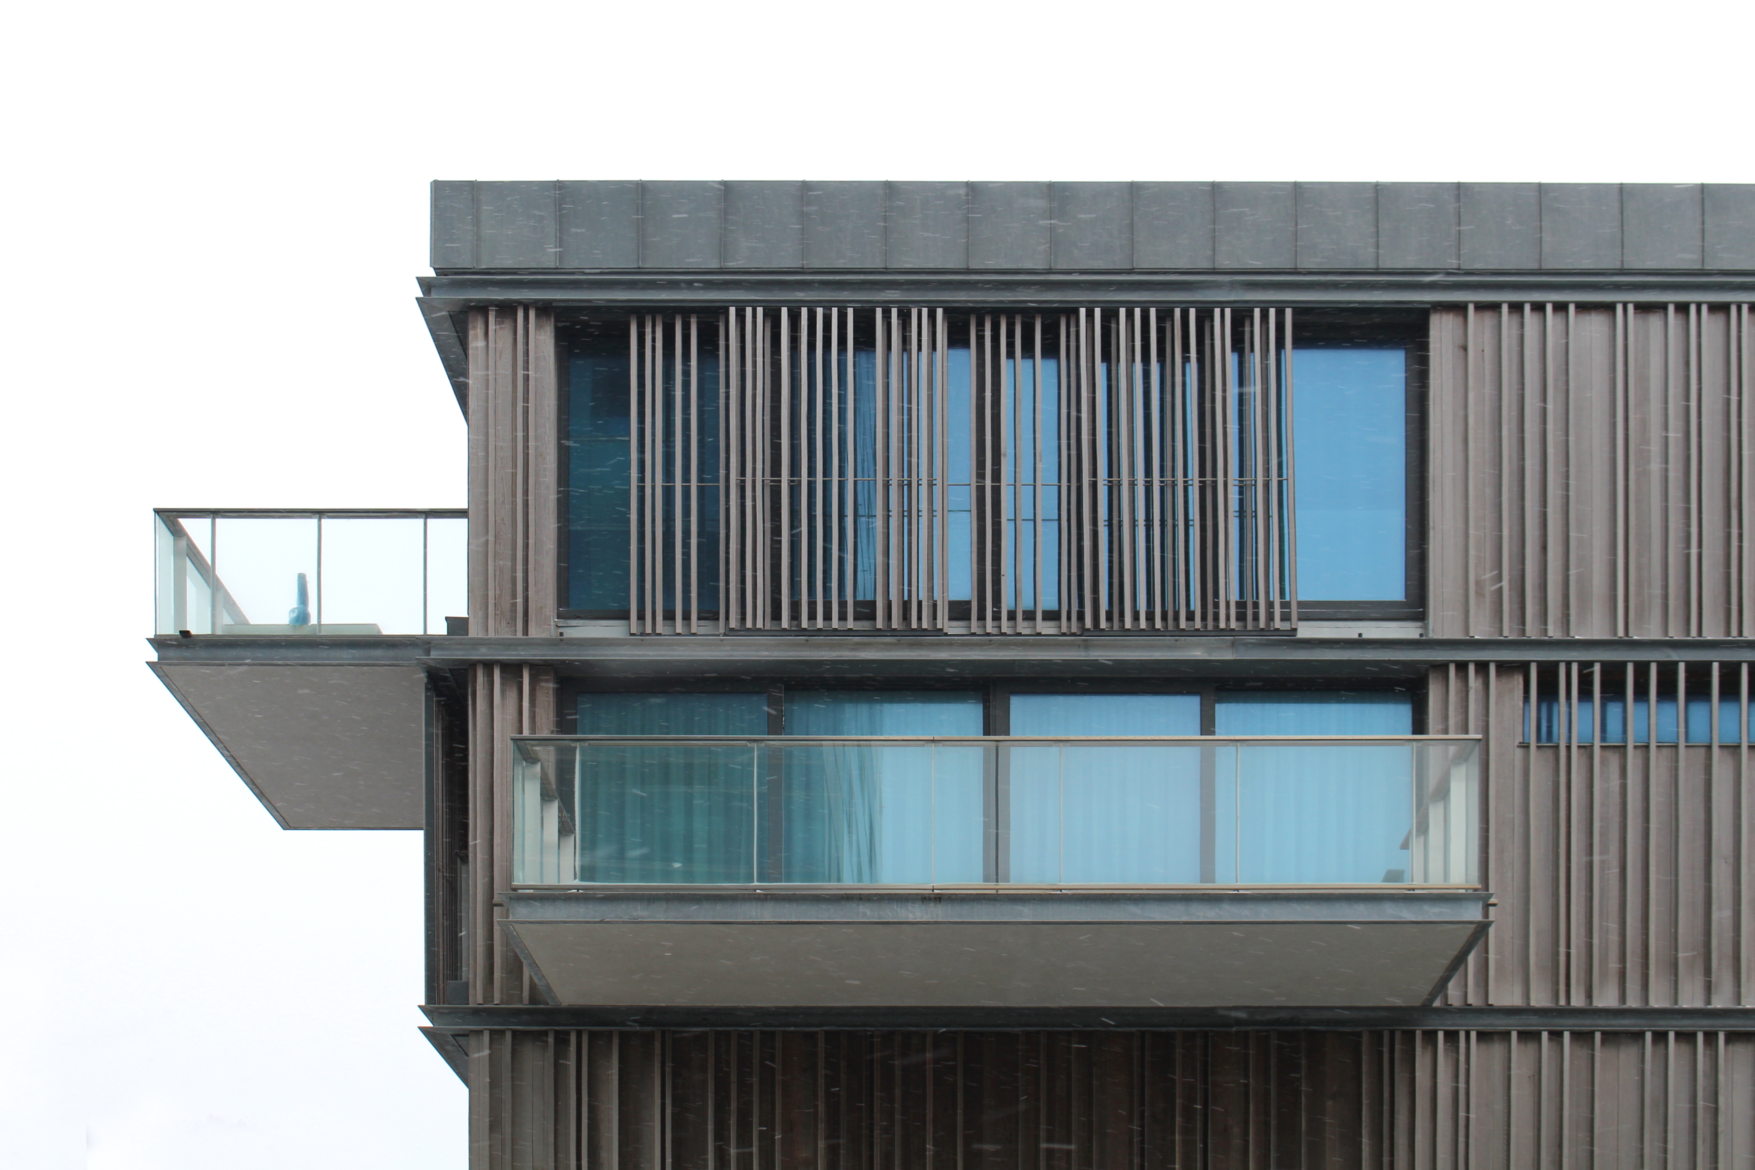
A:
{"type": "Polygon", "coordinates": [[[737,309],[569,337],[572,616],[1076,633],[1413,609],[1395,328],[737,309]]]}

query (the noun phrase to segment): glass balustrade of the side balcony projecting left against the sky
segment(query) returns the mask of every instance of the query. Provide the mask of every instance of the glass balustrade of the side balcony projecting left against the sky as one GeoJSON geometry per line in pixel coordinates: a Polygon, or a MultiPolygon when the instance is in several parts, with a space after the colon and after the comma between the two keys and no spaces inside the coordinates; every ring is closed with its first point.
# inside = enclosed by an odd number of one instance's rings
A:
{"type": "MultiPolygon", "coordinates": [[[[214,633],[246,637],[446,633],[446,617],[465,612],[467,521],[465,509],[153,509],[153,630],[160,637],[177,633],[193,637],[214,633]],[[256,523],[261,528],[256,539],[247,542],[254,547],[242,551],[240,558],[228,556],[239,549],[228,549],[226,540],[221,539],[219,524],[225,521],[256,523]],[[272,528],[269,528],[283,524],[281,537],[297,537],[298,533],[293,533],[291,528],[298,521],[311,523],[309,547],[304,551],[293,547],[295,540],[276,540],[272,528]],[[335,609],[335,589],[332,588],[337,574],[333,526],[337,523],[356,526],[362,521],[419,521],[419,547],[416,551],[411,542],[404,540],[409,547],[402,549],[400,565],[397,565],[397,554],[390,544],[381,542],[384,547],[367,549],[358,535],[347,542],[353,561],[374,561],[353,565],[347,575],[370,581],[379,593],[388,595],[379,605],[395,610],[400,617],[400,621],[390,621],[393,626],[390,630],[384,628],[384,621],[377,619],[377,614],[370,612],[370,602],[365,602],[369,612],[344,614],[346,621],[326,619],[330,614],[325,610],[335,609]],[[433,521],[444,521],[448,528],[435,530],[433,521]],[[197,524],[195,531],[190,528],[191,523],[197,524]],[[200,531],[200,524],[207,526],[205,533],[200,531]],[[328,567],[325,565],[325,524],[330,524],[332,537],[328,567]],[[228,570],[237,572],[244,563],[263,560],[286,561],[293,567],[288,570],[291,575],[288,577],[288,572],[277,574],[277,577],[286,579],[276,582],[277,596],[267,602],[272,609],[263,609],[261,596],[249,598],[256,603],[246,607],[246,600],[240,596],[246,591],[237,588],[237,577],[228,582],[226,574],[228,570]],[[239,561],[239,565],[232,561],[239,561]],[[404,588],[383,588],[384,579],[393,579],[398,574],[372,572],[381,568],[379,563],[400,567],[404,588]],[[418,577],[418,584],[414,577],[418,577]],[[265,617],[281,617],[281,607],[286,609],[284,621],[265,621],[265,617]]],[[[377,535],[388,533],[386,528],[377,535]]],[[[258,572],[246,570],[240,575],[260,575],[260,565],[249,565],[249,568],[258,572]]],[[[360,609],[360,602],[356,600],[351,609],[360,609]]]]}

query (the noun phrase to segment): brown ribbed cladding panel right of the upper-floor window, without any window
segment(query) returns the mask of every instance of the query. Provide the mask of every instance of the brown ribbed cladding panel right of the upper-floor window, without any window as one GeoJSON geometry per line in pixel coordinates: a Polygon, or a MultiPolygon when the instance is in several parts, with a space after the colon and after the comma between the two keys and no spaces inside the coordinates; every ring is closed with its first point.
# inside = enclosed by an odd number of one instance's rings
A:
{"type": "Polygon", "coordinates": [[[1436,309],[1439,637],[1755,635],[1750,305],[1436,309]]]}

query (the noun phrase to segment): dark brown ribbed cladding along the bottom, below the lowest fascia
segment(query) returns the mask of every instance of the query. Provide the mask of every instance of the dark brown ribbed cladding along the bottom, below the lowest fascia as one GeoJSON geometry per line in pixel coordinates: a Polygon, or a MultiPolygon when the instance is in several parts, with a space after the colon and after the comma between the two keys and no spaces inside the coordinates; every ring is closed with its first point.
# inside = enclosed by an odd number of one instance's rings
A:
{"type": "Polygon", "coordinates": [[[1755,1035],[477,1031],[472,1170],[1730,1170],[1755,1035]]]}

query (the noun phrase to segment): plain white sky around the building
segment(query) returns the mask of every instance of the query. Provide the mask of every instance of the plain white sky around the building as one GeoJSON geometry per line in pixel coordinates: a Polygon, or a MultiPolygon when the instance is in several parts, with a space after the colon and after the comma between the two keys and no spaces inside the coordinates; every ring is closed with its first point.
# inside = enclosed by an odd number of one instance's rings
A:
{"type": "Polygon", "coordinates": [[[462,505],[428,179],[1751,182],[1751,11],[18,5],[0,1165],[465,1165],[418,835],[279,831],[142,665],[153,505],[462,505]]]}

